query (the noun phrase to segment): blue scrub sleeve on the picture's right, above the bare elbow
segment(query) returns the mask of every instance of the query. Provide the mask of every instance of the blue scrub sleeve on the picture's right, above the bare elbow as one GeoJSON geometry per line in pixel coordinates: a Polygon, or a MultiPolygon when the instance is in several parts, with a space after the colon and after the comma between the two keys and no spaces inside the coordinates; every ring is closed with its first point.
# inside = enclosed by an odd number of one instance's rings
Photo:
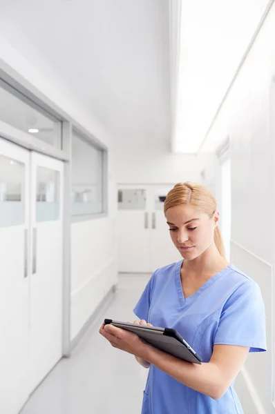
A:
{"type": "Polygon", "coordinates": [[[214,345],[249,346],[249,352],[266,351],[265,306],[258,284],[248,280],[225,304],[214,345]]]}

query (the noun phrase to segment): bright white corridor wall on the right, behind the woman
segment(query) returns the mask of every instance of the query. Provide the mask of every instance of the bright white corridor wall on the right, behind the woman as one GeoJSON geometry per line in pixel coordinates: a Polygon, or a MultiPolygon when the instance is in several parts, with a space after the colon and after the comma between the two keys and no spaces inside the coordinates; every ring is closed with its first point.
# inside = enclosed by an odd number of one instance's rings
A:
{"type": "MultiPolygon", "coordinates": [[[[231,262],[260,285],[267,314],[268,352],[249,355],[237,390],[245,413],[271,414],[272,330],[274,315],[274,118],[275,6],[240,70],[203,151],[229,135],[231,157],[231,262]],[[247,397],[249,399],[247,400],[247,397]]],[[[201,168],[213,170],[211,157],[200,155],[201,168]]],[[[212,175],[214,178],[214,175],[212,175]]],[[[216,175],[218,177],[218,175],[216,175]]],[[[212,186],[218,194],[218,181],[212,186]]]]}

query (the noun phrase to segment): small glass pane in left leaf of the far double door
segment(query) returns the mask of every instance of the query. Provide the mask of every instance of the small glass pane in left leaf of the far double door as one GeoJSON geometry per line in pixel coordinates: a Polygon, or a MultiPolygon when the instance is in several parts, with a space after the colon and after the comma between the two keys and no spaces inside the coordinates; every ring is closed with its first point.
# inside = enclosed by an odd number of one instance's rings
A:
{"type": "Polygon", "coordinates": [[[146,190],[124,188],[118,190],[118,210],[145,210],[146,190]]]}

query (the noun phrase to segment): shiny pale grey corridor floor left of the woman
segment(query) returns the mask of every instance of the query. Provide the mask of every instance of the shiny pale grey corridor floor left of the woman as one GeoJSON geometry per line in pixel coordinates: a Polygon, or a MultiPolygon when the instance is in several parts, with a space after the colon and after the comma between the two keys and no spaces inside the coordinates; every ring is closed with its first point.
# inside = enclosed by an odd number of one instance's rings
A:
{"type": "Polygon", "coordinates": [[[148,371],[99,335],[105,317],[133,320],[149,275],[120,275],[117,292],[79,342],[37,388],[21,414],[140,414],[148,371]]]}

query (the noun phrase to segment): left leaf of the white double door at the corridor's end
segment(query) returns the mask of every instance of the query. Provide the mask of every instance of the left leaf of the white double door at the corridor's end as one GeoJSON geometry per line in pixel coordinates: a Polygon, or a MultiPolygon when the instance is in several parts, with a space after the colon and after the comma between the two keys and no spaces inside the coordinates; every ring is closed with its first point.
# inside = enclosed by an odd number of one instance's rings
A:
{"type": "Polygon", "coordinates": [[[118,269],[120,273],[150,272],[150,223],[147,188],[118,188],[118,269]]]}

